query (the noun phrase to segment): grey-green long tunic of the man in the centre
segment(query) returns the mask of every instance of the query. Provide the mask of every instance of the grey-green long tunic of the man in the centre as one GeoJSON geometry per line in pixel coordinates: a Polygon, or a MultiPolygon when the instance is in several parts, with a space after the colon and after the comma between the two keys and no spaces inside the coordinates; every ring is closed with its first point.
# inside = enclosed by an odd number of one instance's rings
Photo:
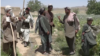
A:
{"type": "MultiPolygon", "coordinates": [[[[47,20],[45,16],[41,16],[39,19],[39,34],[42,36],[47,35],[48,31],[50,32],[49,21],[47,20]]],[[[49,38],[49,42],[51,42],[51,33],[48,35],[48,38],[49,38]]],[[[46,41],[46,40],[43,39],[43,41],[46,41]]]]}

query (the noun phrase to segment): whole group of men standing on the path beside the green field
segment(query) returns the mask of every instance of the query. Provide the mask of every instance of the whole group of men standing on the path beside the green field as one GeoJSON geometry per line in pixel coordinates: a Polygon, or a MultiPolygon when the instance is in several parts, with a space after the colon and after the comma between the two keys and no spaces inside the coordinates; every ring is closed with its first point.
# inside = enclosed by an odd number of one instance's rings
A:
{"type": "MultiPolygon", "coordinates": [[[[48,10],[41,8],[38,13],[38,18],[36,20],[35,33],[39,30],[39,35],[41,38],[41,43],[43,47],[43,54],[50,52],[52,50],[52,27],[55,27],[53,23],[54,15],[51,12],[53,5],[48,5],[48,10]]],[[[74,12],[71,12],[69,7],[65,7],[65,16],[63,21],[58,16],[60,23],[64,24],[65,38],[70,49],[70,55],[75,54],[75,36],[80,30],[79,19],[74,12]]],[[[84,25],[82,31],[82,48],[84,52],[88,53],[91,46],[96,45],[95,34],[93,33],[92,18],[87,19],[87,24],[84,25]],[[88,48],[88,49],[87,49],[88,48]],[[86,50],[87,49],[87,50],[86,50]],[[86,52],[87,51],[87,52],[86,52]]],[[[17,32],[19,37],[23,40],[22,44],[24,47],[28,46],[29,42],[29,32],[30,28],[33,28],[33,17],[30,14],[30,8],[23,10],[18,19],[14,16],[11,6],[5,7],[5,15],[2,17],[2,26],[4,31],[3,37],[3,51],[14,56],[13,51],[13,41],[15,41],[15,47],[17,44],[17,32]],[[13,29],[11,29],[11,25],[13,29]],[[14,40],[13,34],[14,33],[14,40]],[[9,49],[11,52],[9,53],[9,49]]]]}

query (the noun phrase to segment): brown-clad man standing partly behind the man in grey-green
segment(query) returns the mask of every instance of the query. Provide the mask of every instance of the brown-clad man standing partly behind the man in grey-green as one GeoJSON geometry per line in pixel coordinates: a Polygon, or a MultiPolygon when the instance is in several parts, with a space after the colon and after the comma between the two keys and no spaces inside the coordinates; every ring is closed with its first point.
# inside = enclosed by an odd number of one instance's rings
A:
{"type": "MultiPolygon", "coordinates": [[[[52,27],[55,27],[54,23],[53,23],[53,13],[51,12],[53,9],[53,5],[48,5],[48,10],[46,11],[46,14],[45,16],[47,17],[47,19],[49,20],[49,24],[50,24],[50,32],[52,34],[52,27]]],[[[52,38],[50,38],[52,40],[52,38]]],[[[51,43],[49,43],[49,40],[48,40],[48,51],[51,51],[52,49],[52,46],[51,46],[51,43]]]]}

